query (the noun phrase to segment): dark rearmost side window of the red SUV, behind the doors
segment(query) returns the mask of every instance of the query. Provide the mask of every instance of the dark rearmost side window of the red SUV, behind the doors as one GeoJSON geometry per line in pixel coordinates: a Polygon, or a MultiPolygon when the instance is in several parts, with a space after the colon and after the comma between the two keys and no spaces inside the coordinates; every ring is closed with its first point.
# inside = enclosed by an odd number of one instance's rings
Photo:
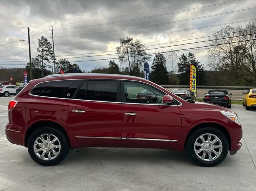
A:
{"type": "Polygon", "coordinates": [[[74,81],[75,80],[60,80],[43,82],[36,85],[30,93],[38,96],[62,98],[74,81]]]}

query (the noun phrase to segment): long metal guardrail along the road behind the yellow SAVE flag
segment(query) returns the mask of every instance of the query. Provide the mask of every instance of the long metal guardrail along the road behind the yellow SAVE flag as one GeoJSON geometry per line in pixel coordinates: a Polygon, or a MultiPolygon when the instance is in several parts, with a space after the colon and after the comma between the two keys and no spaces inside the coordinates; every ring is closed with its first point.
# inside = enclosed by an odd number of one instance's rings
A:
{"type": "MultiPolygon", "coordinates": [[[[189,88],[188,85],[161,85],[163,88],[189,88]]],[[[196,86],[199,89],[230,89],[230,90],[248,90],[256,88],[255,86],[196,86]]]]}

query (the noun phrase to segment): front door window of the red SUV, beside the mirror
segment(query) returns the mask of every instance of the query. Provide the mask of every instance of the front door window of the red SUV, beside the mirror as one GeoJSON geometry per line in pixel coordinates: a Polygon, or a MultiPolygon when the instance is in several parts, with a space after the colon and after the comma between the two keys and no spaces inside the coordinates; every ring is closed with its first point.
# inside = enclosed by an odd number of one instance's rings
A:
{"type": "Polygon", "coordinates": [[[144,104],[164,104],[164,94],[148,85],[136,82],[124,82],[126,102],[144,104]]]}

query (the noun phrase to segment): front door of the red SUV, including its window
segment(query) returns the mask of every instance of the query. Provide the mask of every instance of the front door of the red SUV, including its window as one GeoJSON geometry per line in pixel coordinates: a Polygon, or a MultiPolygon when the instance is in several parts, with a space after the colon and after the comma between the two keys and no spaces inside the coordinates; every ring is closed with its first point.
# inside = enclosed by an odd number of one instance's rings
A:
{"type": "Polygon", "coordinates": [[[181,133],[178,101],[162,102],[164,92],[134,81],[122,82],[122,146],[174,148],[181,133]]]}

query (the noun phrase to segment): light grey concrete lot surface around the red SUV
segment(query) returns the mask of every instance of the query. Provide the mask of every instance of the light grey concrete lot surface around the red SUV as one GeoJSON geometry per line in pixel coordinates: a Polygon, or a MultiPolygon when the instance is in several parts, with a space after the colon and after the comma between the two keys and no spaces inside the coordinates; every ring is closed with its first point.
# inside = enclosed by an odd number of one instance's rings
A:
{"type": "Polygon", "coordinates": [[[215,167],[199,167],[184,152],[131,148],[76,149],[59,165],[43,167],[6,139],[12,98],[0,97],[1,191],[256,190],[256,110],[232,105],[243,126],[243,146],[215,167]]]}

